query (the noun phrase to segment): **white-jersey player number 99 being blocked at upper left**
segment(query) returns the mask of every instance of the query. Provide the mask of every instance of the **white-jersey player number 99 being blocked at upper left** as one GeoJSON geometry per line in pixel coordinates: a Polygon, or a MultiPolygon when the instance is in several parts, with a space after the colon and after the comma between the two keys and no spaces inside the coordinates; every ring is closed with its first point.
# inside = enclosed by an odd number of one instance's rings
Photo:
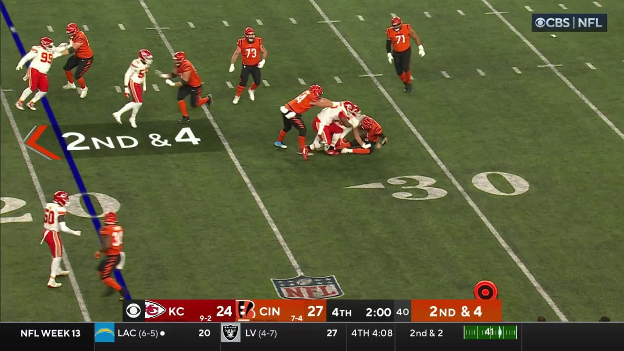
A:
{"type": "MultiPolygon", "coordinates": [[[[31,61],[31,65],[26,72],[26,76],[28,80],[28,87],[24,89],[22,95],[19,97],[19,100],[15,103],[15,107],[24,111],[24,101],[26,98],[35,93],[35,96],[32,97],[31,101],[26,104],[26,106],[32,111],[36,111],[35,102],[42,99],[47,94],[47,88],[49,86],[47,81],[47,71],[50,70],[50,66],[52,66],[52,60],[56,59],[56,57],[62,56],[63,54],[68,54],[66,47],[59,46],[55,47],[54,42],[49,37],[42,37],[39,40],[39,45],[35,45],[31,47],[31,51],[29,51],[24,57],[22,57],[19,62],[17,62],[17,67],[15,67],[16,71],[24,68],[26,62],[31,61]],[[37,91],[39,89],[39,91],[37,91]]],[[[24,79],[26,81],[26,79],[24,79]]]]}

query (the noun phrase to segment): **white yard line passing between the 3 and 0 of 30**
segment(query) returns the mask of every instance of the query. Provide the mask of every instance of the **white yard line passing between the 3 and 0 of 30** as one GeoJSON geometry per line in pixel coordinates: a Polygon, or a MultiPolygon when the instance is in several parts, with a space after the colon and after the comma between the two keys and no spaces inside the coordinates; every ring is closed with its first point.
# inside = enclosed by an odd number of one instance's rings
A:
{"type": "MultiPolygon", "coordinates": [[[[323,12],[321,7],[319,7],[318,4],[316,4],[316,1],[314,1],[314,0],[309,0],[309,1],[314,6],[314,8],[316,8],[316,11],[318,11],[318,13],[321,15],[321,17],[323,17],[324,19],[327,19],[327,15],[325,14],[325,12],[323,12]]],[[[495,11],[495,10],[492,9],[492,11],[495,11]]],[[[374,82],[375,86],[377,86],[379,91],[381,91],[381,94],[383,94],[383,96],[386,97],[386,100],[388,100],[390,105],[394,108],[394,111],[396,111],[396,113],[399,116],[401,116],[401,119],[403,120],[403,122],[407,125],[407,127],[409,127],[409,129],[412,131],[414,136],[416,136],[418,141],[421,142],[422,146],[427,150],[427,152],[429,152],[429,155],[431,156],[431,158],[434,159],[434,161],[436,161],[436,164],[442,169],[444,174],[446,174],[446,176],[451,180],[452,184],[455,185],[456,189],[459,191],[459,193],[462,195],[462,197],[464,197],[466,202],[468,202],[468,204],[470,205],[472,210],[474,210],[474,212],[477,214],[477,216],[479,216],[479,219],[485,224],[487,229],[490,230],[490,233],[492,233],[492,235],[494,235],[496,240],[498,240],[500,246],[503,247],[503,249],[505,250],[505,252],[507,252],[509,257],[511,257],[511,259],[514,260],[514,263],[519,267],[519,269],[522,271],[522,273],[524,273],[525,277],[527,277],[527,279],[529,279],[531,284],[533,284],[533,286],[535,287],[535,290],[537,290],[537,292],[539,292],[539,294],[542,295],[544,300],[546,300],[548,305],[550,305],[550,307],[555,311],[555,313],[557,313],[557,316],[561,320],[567,321],[565,315],[563,315],[563,313],[557,307],[555,302],[553,302],[553,300],[550,298],[548,293],[544,290],[542,285],[540,285],[539,282],[537,282],[537,280],[535,279],[534,275],[531,274],[529,269],[525,266],[525,264],[522,262],[522,260],[520,260],[518,255],[515,254],[514,250],[509,246],[509,244],[507,244],[505,239],[503,239],[503,237],[500,235],[498,230],[494,227],[494,225],[492,225],[490,220],[487,219],[487,217],[485,217],[485,214],[483,214],[481,209],[479,209],[477,204],[475,204],[474,200],[472,200],[472,197],[470,197],[470,195],[468,195],[468,193],[466,192],[466,189],[464,189],[464,187],[462,187],[462,185],[459,184],[459,182],[457,181],[456,177],[451,173],[451,171],[449,171],[449,168],[442,162],[440,157],[437,156],[436,152],[433,151],[433,149],[431,148],[429,143],[424,139],[424,137],[422,137],[421,133],[419,131],[417,131],[416,127],[414,127],[414,124],[412,124],[412,122],[407,118],[405,113],[396,104],[396,102],[394,102],[394,99],[392,99],[390,94],[388,94],[388,91],[386,91],[386,88],[384,88],[381,85],[381,83],[379,82],[379,79],[377,79],[376,77],[373,76],[373,72],[371,72],[371,70],[368,68],[368,66],[366,66],[364,61],[362,61],[361,57],[359,57],[359,55],[358,55],[358,52],[356,52],[353,49],[353,47],[351,46],[351,44],[349,44],[349,42],[346,39],[344,39],[343,34],[341,34],[341,32],[338,31],[336,26],[334,26],[333,24],[330,23],[329,27],[334,32],[334,34],[336,34],[336,36],[338,36],[338,38],[343,42],[344,46],[346,46],[346,48],[349,50],[349,52],[351,52],[351,55],[353,55],[353,57],[356,59],[356,61],[358,61],[359,65],[364,69],[364,72],[366,72],[369,75],[371,75],[371,79],[373,79],[373,82],[374,82]]]]}

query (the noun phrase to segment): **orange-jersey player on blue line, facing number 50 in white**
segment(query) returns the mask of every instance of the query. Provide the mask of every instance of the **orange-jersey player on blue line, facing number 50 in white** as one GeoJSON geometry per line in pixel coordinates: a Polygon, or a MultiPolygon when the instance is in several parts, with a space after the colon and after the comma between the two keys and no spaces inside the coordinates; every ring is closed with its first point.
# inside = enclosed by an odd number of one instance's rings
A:
{"type": "MultiPolygon", "coordinates": [[[[95,258],[100,259],[102,254],[105,256],[100,261],[97,267],[100,272],[102,282],[106,284],[110,289],[117,290],[121,297],[119,300],[123,300],[126,295],[126,290],[121,287],[111,277],[111,274],[115,267],[123,265],[124,252],[124,228],[117,224],[117,215],[115,212],[107,212],[104,215],[104,227],[100,229],[100,235],[102,236],[102,248],[95,251],[95,258]]],[[[112,290],[109,290],[112,293],[112,290]]]]}

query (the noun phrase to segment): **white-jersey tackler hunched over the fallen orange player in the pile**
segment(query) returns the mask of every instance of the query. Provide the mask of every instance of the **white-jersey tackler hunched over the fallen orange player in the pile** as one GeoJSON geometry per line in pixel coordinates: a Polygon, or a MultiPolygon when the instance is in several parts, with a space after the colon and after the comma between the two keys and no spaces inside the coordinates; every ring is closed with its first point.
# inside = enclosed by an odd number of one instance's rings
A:
{"type": "Polygon", "coordinates": [[[334,102],[334,106],[322,109],[312,122],[316,137],[312,144],[303,148],[303,159],[308,159],[310,151],[321,150],[325,146],[328,146],[328,155],[339,155],[340,152],[334,147],[351,129],[357,128],[358,117],[359,107],[351,101],[334,102]]]}

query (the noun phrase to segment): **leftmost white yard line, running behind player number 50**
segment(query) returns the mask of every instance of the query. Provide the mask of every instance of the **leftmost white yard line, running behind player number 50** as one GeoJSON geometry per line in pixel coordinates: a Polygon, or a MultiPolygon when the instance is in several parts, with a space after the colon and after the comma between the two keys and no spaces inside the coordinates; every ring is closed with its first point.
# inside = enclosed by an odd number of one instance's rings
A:
{"type": "MultiPolygon", "coordinates": [[[[0,100],[2,101],[2,106],[4,106],[4,112],[6,112],[6,116],[9,117],[11,129],[13,129],[13,134],[15,134],[17,144],[19,144],[19,150],[22,152],[24,162],[26,162],[26,168],[28,169],[29,174],[31,174],[32,185],[34,185],[35,190],[37,191],[37,195],[39,195],[39,202],[41,202],[41,210],[43,211],[44,207],[46,207],[46,195],[44,195],[41,183],[39,182],[39,177],[37,177],[37,173],[35,172],[35,168],[34,166],[32,166],[31,157],[26,150],[26,145],[24,145],[24,139],[22,139],[22,136],[19,133],[19,129],[17,129],[15,118],[13,117],[13,113],[11,112],[11,108],[9,107],[9,102],[6,100],[4,92],[2,91],[0,91],[0,100]]],[[[72,264],[71,262],[69,262],[69,256],[67,256],[67,245],[63,246],[63,264],[65,265],[65,268],[69,270],[69,282],[72,285],[72,289],[74,290],[74,296],[76,296],[78,307],[80,308],[80,313],[82,314],[82,319],[84,319],[85,322],[90,322],[91,317],[89,316],[89,310],[87,310],[87,304],[84,302],[82,292],[80,292],[80,287],[78,286],[78,280],[76,280],[76,275],[74,274],[74,270],[72,269],[72,264]]],[[[44,282],[42,281],[41,286],[43,286],[43,283],[44,282]]]]}

